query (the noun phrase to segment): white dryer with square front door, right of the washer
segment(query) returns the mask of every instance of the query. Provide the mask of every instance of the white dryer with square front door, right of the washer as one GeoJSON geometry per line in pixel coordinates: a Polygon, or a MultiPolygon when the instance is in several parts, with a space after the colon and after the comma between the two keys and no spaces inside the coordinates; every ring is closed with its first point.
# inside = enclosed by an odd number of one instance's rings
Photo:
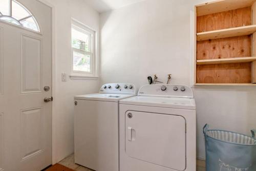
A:
{"type": "Polygon", "coordinates": [[[196,104],[189,87],[143,86],[119,102],[120,171],[196,171],[196,104]]]}

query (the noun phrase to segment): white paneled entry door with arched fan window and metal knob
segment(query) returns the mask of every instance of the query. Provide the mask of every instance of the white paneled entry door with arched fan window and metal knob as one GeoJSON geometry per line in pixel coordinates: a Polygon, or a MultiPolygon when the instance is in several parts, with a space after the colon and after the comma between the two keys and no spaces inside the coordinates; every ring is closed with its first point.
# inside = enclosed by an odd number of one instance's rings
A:
{"type": "Polygon", "coordinates": [[[51,164],[52,12],[36,0],[0,12],[0,170],[38,171],[51,164]]]}

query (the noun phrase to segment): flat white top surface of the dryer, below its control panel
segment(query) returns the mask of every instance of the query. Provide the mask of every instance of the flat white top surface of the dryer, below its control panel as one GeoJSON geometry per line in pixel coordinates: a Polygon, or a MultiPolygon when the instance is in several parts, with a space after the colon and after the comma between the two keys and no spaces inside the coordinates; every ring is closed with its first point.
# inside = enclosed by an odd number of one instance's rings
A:
{"type": "Polygon", "coordinates": [[[194,98],[135,96],[135,97],[120,100],[119,103],[163,107],[163,108],[196,110],[196,103],[194,98]]]}

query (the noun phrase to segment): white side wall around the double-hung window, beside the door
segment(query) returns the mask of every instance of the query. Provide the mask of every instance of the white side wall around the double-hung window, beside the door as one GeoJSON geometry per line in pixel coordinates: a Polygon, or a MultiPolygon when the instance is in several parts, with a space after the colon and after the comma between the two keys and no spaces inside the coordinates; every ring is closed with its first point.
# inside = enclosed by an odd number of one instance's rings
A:
{"type": "MultiPolygon", "coordinates": [[[[95,93],[99,80],[61,81],[61,73],[71,73],[71,17],[99,33],[99,14],[83,0],[47,0],[54,7],[54,101],[53,163],[74,153],[74,95],[95,93]]],[[[99,39],[97,40],[99,42],[99,39]]]]}

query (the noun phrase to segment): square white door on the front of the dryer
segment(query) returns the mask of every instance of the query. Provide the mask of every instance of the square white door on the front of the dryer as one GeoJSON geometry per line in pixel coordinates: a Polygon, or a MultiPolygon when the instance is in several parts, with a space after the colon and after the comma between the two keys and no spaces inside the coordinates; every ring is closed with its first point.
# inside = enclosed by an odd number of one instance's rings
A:
{"type": "Polygon", "coordinates": [[[125,153],[145,162],[185,170],[185,119],[177,115],[127,111],[125,153]]]}

